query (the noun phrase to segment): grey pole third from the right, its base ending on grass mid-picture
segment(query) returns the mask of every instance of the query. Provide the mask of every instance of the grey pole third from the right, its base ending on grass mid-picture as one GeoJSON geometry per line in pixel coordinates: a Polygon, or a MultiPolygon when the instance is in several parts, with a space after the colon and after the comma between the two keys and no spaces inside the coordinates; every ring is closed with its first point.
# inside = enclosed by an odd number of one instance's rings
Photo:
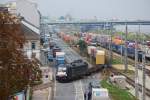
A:
{"type": "Polygon", "coordinates": [[[128,26],[125,24],[125,71],[128,70],[128,62],[127,62],[127,34],[128,34],[128,26]]]}

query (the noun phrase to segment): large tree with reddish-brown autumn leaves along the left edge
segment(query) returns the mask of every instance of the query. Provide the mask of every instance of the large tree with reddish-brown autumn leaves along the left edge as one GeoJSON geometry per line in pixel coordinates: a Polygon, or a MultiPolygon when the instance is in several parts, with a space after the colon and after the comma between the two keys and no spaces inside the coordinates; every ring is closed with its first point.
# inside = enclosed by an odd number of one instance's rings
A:
{"type": "Polygon", "coordinates": [[[24,42],[20,20],[0,12],[0,100],[8,100],[35,80],[37,66],[23,55],[24,42]]]}

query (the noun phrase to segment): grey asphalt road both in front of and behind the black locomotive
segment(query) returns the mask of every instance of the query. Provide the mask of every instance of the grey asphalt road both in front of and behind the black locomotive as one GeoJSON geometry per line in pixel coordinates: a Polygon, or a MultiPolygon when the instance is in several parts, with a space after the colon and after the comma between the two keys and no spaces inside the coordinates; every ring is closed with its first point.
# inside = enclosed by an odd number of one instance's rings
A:
{"type": "MultiPolygon", "coordinates": [[[[72,50],[56,35],[53,35],[53,40],[62,51],[65,52],[65,59],[68,63],[82,59],[82,57],[72,50]]],[[[91,66],[91,65],[90,65],[91,66]]],[[[89,82],[99,80],[100,74],[94,74],[88,77],[83,77],[70,83],[59,83],[55,81],[54,100],[84,100],[84,92],[88,87],[89,82]]]]}

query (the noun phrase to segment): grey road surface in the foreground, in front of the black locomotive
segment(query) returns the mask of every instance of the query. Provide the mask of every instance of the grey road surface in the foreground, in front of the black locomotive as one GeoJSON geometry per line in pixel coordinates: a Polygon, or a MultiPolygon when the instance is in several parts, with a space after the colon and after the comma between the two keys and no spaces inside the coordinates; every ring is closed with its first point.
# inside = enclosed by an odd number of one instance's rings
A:
{"type": "Polygon", "coordinates": [[[54,100],[84,100],[84,91],[88,84],[100,80],[100,73],[84,77],[70,83],[55,82],[54,100]]]}

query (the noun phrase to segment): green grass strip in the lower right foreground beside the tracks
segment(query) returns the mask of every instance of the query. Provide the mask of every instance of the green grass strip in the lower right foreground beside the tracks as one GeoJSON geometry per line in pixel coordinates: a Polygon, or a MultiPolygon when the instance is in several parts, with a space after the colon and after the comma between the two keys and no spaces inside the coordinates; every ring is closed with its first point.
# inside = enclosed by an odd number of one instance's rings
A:
{"type": "Polygon", "coordinates": [[[136,98],[127,90],[120,89],[108,83],[106,80],[101,81],[101,86],[107,88],[113,100],[136,100],[136,98]]]}

